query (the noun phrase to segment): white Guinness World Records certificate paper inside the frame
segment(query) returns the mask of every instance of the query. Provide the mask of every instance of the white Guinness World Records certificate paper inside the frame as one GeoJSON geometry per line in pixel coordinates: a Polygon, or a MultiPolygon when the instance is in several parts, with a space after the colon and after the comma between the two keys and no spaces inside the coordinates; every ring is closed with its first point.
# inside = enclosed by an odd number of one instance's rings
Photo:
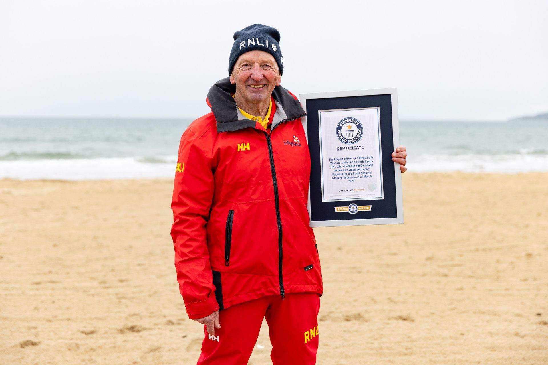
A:
{"type": "Polygon", "coordinates": [[[383,196],[379,108],[318,111],[322,201],[383,196]]]}

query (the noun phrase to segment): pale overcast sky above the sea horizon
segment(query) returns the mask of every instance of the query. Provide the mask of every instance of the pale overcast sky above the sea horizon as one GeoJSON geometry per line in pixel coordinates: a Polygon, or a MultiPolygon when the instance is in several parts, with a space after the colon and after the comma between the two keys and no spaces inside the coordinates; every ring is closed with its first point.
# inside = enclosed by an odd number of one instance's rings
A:
{"type": "Polygon", "coordinates": [[[505,120],[548,111],[547,19],[546,0],[0,0],[0,116],[199,117],[262,23],[296,95],[397,87],[402,120],[505,120]]]}

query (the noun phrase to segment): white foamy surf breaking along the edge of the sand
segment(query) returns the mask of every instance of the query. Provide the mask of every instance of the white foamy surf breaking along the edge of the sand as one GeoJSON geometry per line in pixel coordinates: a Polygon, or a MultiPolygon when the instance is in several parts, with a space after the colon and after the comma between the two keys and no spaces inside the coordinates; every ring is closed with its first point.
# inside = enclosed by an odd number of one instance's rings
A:
{"type": "MultiPolygon", "coordinates": [[[[0,161],[0,178],[20,180],[100,180],[173,178],[176,156],[120,157],[94,159],[48,159],[0,161]]],[[[494,172],[548,171],[548,155],[410,155],[410,172],[494,172]]]]}

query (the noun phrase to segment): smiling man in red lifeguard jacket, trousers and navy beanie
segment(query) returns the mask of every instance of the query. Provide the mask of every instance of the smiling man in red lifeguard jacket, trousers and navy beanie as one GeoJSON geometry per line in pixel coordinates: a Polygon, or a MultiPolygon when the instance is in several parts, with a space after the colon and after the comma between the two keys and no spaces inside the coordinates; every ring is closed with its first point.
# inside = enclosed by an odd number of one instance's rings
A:
{"type": "MultiPolygon", "coordinates": [[[[189,317],[204,324],[198,364],[246,364],[262,319],[273,364],[314,364],[322,276],[306,209],[305,113],[280,86],[279,32],[234,34],[230,77],[212,86],[212,113],[181,137],[172,237],[189,317]],[[284,141],[298,137],[302,148],[284,141]]],[[[406,170],[405,147],[393,160],[406,170]]]]}

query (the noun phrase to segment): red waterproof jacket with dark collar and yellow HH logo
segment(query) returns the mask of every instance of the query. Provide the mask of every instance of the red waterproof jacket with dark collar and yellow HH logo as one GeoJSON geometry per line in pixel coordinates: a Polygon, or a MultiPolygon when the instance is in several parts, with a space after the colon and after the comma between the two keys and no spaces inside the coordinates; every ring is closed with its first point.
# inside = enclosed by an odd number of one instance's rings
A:
{"type": "Polygon", "coordinates": [[[212,86],[212,113],[181,137],[172,227],[179,289],[190,318],[286,293],[322,294],[306,209],[310,153],[296,97],[272,92],[272,127],[239,112],[229,78],[212,86]]]}

